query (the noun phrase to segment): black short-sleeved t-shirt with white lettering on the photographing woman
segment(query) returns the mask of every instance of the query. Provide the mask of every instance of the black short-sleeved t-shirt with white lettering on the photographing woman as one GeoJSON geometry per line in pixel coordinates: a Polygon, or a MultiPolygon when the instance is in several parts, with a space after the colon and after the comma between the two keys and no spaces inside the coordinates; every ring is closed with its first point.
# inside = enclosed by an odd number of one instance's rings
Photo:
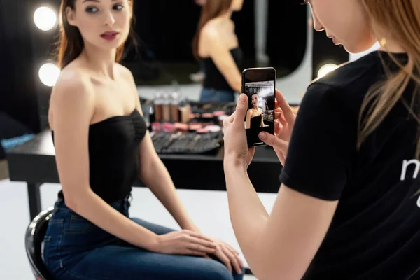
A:
{"type": "MultiPolygon", "coordinates": [[[[385,77],[381,59],[398,69],[386,52],[372,52],[309,85],[297,113],[280,180],[339,200],[305,280],[420,279],[418,125],[401,99],[356,148],[363,99],[385,77]]],[[[410,103],[415,89],[410,83],[402,99],[410,103]]]]}

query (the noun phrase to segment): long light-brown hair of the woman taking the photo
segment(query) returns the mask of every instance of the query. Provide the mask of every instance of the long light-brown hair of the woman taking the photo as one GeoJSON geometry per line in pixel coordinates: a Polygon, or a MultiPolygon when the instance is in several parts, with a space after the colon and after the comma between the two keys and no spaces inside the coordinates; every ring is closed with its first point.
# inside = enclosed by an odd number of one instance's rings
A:
{"type": "MultiPolygon", "coordinates": [[[[419,123],[414,103],[419,101],[420,87],[420,1],[419,0],[363,0],[367,13],[381,27],[386,28],[393,40],[407,52],[407,64],[400,64],[392,54],[400,70],[386,71],[387,78],[374,85],[367,93],[360,111],[358,148],[362,142],[381,124],[393,106],[401,100],[409,114],[419,123]],[[409,82],[414,80],[416,92],[411,101],[402,99],[409,82]],[[365,118],[362,116],[366,113],[365,118]]],[[[386,42],[385,48],[386,48],[386,42]]],[[[416,158],[420,157],[420,139],[417,140],[416,158]]]]}

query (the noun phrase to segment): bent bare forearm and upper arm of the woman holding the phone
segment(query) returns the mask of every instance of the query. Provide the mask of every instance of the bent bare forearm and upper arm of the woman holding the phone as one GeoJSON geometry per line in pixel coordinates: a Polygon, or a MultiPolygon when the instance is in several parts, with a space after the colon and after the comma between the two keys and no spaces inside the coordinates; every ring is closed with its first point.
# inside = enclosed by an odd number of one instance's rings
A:
{"type": "Polygon", "coordinates": [[[230,220],[249,267],[258,279],[301,279],[338,202],[318,200],[282,185],[269,215],[246,167],[226,162],[230,220]]]}

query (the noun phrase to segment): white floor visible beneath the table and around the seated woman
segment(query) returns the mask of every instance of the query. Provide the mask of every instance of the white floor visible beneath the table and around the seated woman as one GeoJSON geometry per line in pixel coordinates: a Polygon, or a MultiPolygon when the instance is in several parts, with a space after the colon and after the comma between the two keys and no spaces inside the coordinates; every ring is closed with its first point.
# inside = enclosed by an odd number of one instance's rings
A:
{"type": "MultiPolygon", "coordinates": [[[[52,206],[60,186],[41,187],[42,208],[52,206]]],[[[179,190],[188,212],[204,233],[220,237],[238,251],[239,246],[230,225],[228,200],[225,192],[179,190]]],[[[267,211],[271,211],[274,194],[260,195],[267,211]]],[[[29,224],[27,188],[25,183],[0,181],[0,279],[33,279],[25,253],[24,237],[29,224]]],[[[134,188],[130,214],[154,223],[179,228],[162,204],[146,188],[134,188]]],[[[246,280],[255,279],[246,276],[246,280]]]]}

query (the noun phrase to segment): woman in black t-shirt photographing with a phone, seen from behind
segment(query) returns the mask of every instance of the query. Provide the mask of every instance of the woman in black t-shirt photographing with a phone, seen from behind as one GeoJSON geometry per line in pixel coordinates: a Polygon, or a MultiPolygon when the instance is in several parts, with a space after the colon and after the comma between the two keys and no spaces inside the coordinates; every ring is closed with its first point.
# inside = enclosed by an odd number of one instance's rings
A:
{"type": "Polygon", "coordinates": [[[276,91],[283,165],[272,213],[246,169],[248,97],[225,120],[230,218],[258,279],[420,279],[418,0],[309,0],[316,31],[378,51],[307,88],[299,114],[276,91]]]}

